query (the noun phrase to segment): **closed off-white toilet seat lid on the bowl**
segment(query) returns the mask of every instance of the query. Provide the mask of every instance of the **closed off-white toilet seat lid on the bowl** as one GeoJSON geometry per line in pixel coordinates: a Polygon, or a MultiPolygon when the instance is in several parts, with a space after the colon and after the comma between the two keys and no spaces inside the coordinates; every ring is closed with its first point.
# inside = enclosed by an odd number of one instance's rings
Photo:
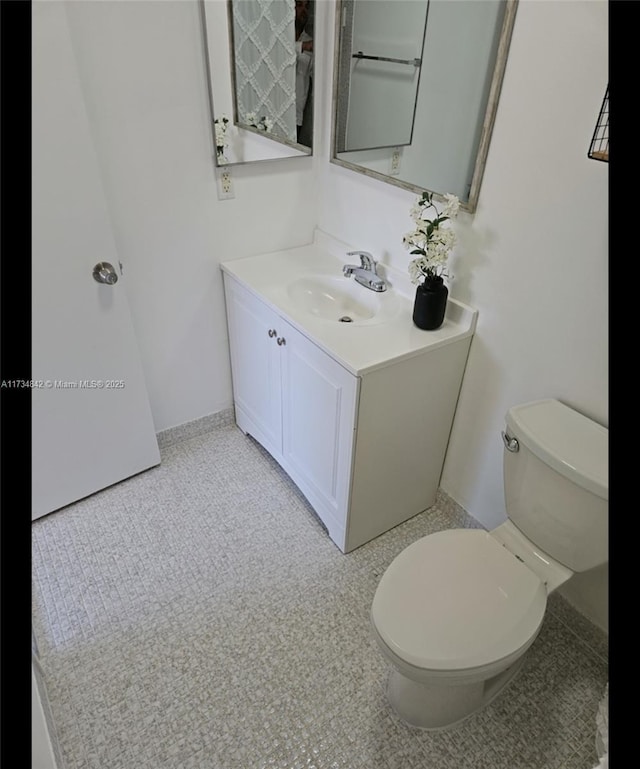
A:
{"type": "Polygon", "coordinates": [[[456,672],[525,650],[546,603],[539,577],[488,532],[449,529],[417,540],[392,561],[371,618],[402,660],[456,672]]]}

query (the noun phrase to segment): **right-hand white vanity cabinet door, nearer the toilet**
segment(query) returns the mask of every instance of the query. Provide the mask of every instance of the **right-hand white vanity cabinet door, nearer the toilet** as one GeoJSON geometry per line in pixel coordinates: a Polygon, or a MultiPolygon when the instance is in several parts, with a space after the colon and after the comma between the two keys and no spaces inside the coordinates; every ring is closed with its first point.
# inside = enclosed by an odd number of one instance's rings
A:
{"type": "Polygon", "coordinates": [[[287,471],[342,547],[359,379],[296,329],[282,356],[282,454],[287,471]]]}

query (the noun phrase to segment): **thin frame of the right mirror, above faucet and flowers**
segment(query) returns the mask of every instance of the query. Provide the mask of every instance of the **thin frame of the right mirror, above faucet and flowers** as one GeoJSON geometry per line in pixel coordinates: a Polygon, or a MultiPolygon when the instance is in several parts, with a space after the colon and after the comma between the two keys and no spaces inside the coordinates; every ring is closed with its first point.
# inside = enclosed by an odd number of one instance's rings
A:
{"type": "MultiPolygon", "coordinates": [[[[500,30],[500,37],[498,40],[498,49],[496,54],[496,62],[493,68],[493,75],[491,78],[491,87],[489,89],[489,96],[487,99],[487,108],[485,110],[484,119],[482,122],[482,131],[480,133],[480,141],[478,142],[478,151],[476,153],[476,161],[473,169],[473,176],[471,178],[471,188],[469,191],[469,200],[463,202],[460,201],[460,209],[474,213],[477,205],[478,198],[480,196],[480,186],[482,184],[482,177],[484,175],[484,169],[487,163],[487,155],[489,153],[489,144],[491,142],[491,134],[493,132],[493,125],[496,119],[496,113],[498,111],[498,101],[500,97],[500,91],[502,89],[502,81],[504,80],[504,73],[507,65],[507,56],[509,53],[509,45],[511,43],[511,37],[513,35],[513,27],[515,24],[516,11],[518,8],[519,0],[505,0],[505,12],[502,22],[502,29],[500,30]]],[[[337,125],[338,125],[338,73],[340,67],[340,35],[342,27],[342,12],[344,7],[344,0],[336,0],[336,15],[335,15],[335,31],[334,31],[334,56],[333,56],[333,88],[332,88],[332,103],[331,103],[331,151],[329,162],[334,165],[347,168],[350,171],[369,176],[372,179],[378,179],[379,181],[392,184],[395,187],[401,187],[402,189],[415,192],[418,195],[424,191],[433,193],[436,200],[444,201],[445,191],[432,190],[428,186],[420,187],[411,182],[405,182],[396,176],[380,173],[373,169],[366,168],[358,165],[357,163],[351,163],[348,160],[342,160],[337,156],[336,152],[336,138],[337,138],[337,125]]]]}

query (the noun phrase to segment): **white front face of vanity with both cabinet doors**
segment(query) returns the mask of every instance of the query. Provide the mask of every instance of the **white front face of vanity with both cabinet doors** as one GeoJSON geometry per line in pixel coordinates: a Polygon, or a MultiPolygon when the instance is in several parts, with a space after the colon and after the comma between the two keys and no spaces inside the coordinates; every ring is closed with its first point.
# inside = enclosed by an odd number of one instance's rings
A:
{"type": "Polygon", "coordinates": [[[282,465],[341,546],[360,380],[224,276],[236,423],[282,465]]]}

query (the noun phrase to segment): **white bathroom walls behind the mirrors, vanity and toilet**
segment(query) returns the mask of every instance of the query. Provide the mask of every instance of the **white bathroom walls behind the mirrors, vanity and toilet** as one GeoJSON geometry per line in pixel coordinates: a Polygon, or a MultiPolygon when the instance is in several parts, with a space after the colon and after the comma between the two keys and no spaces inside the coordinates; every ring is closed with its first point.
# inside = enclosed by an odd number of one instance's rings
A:
{"type": "MultiPolygon", "coordinates": [[[[316,155],[234,167],[219,201],[197,4],[73,4],[157,430],[231,405],[220,261],[310,242],[317,224],[406,268],[414,195],[328,163],[333,13],[318,0],[316,155]]],[[[442,486],[488,527],[504,519],[509,406],[557,397],[608,423],[608,166],[587,158],[607,41],[606,0],[521,0],[478,211],[460,220],[450,290],[479,321],[442,486]]],[[[604,626],[602,579],[573,598],[604,626]]]]}

